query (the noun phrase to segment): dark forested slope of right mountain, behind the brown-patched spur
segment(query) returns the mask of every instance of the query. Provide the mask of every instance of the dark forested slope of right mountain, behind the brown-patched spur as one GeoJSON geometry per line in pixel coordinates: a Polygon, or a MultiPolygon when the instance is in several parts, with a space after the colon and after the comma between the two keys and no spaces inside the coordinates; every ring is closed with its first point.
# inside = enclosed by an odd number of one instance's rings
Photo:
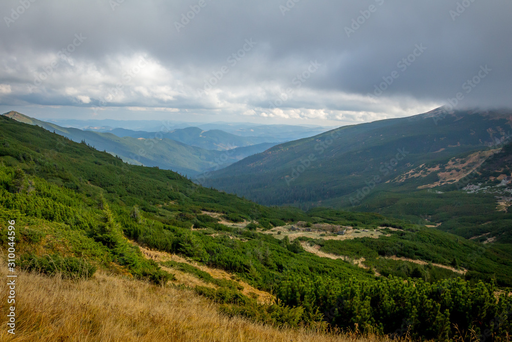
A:
{"type": "MultiPolygon", "coordinates": [[[[328,201],[349,207],[356,203],[350,197],[357,200],[357,191],[376,177],[380,186],[424,163],[482,150],[510,135],[510,112],[455,112],[437,121],[436,115],[442,110],[280,144],[212,173],[204,185],[267,205],[328,201]]],[[[432,177],[420,180],[429,184],[432,177]]]]}

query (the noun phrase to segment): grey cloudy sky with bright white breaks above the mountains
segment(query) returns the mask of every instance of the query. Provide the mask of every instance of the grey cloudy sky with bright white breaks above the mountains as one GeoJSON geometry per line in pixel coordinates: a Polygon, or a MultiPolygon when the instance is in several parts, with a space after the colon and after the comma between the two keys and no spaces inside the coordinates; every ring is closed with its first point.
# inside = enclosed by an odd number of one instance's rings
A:
{"type": "Polygon", "coordinates": [[[458,93],[459,108],[512,107],[511,13],[509,0],[3,0],[0,110],[346,125],[458,93]]]}

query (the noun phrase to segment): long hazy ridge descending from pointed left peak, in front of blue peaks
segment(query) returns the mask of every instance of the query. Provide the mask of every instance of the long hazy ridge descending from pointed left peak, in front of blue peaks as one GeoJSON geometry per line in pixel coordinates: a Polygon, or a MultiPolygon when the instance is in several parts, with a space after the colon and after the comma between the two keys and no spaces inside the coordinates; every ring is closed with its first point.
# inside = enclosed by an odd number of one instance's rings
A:
{"type": "Polygon", "coordinates": [[[112,133],[63,128],[14,111],[4,115],[19,122],[40,126],[75,142],[84,142],[99,150],[105,150],[131,164],[156,166],[188,176],[219,169],[273,146],[273,144],[264,143],[229,151],[211,151],[166,138],[118,137],[112,133]]]}

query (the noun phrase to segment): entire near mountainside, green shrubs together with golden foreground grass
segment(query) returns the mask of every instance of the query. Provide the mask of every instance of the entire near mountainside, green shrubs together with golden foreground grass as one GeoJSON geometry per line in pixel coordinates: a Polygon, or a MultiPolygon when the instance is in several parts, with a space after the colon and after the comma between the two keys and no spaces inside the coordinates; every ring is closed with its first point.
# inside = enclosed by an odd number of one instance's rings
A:
{"type": "Polygon", "coordinates": [[[19,274],[20,340],[54,340],[54,331],[58,339],[122,339],[119,331],[173,339],[203,312],[238,327],[237,336],[242,319],[311,327],[318,340],[342,329],[379,340],[400,329],[418,340],[474,331],[506,340],[512,328],[509,245],[374,213],[264,207],[7,116],[0,216],[0,248],[16,252],[15,263],[4,253],[0,264],[2,276],[19,274]],[[169,306],[180,312],[174,320],[169,306]],[[139,321],[152,310],[157,318],[139,321]],[[162,324],[173,329],[147,329],[162,324]]]}

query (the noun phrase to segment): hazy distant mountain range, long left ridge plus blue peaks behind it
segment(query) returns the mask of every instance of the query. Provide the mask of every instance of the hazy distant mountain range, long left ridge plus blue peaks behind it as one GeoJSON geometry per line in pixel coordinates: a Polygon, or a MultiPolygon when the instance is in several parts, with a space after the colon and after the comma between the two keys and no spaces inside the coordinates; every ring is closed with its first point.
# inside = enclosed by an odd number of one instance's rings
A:
{"type": "MultiPolygon", "coordinates": [[[[68,137],[74,142],[83,142],[99,150],[105,150],[131,164],[159,167],[187,176],[195,176],[205,171],[220,169],[274,145],[273,143],[263,142],[264,139],[261,138],[251,140],[222,131],[200,132],[199,128],[174,131],[176,132],[175,136],[182,140],[190,143],[196,142],[195,146],[190,146],[178,142],[176,139],[162,137],[158,133],[128,131],[132,134],[121,134],[123,136],[120,137],[109,132],[60,127],[14,111],[3,115],[19,122],[43,127],[51,132],[68,137]],[[180,133],[182,134],[180,135],[180,133]],[[253,142],[259,143],[253,144],[253,142]],[[236,144],[241,145],[241,147],[237,147],[236,144]],[[217,148],[210,150],[197,145],[217,148]]],[[[126,133],[126,130],[118,130],[126,133]]]]}

